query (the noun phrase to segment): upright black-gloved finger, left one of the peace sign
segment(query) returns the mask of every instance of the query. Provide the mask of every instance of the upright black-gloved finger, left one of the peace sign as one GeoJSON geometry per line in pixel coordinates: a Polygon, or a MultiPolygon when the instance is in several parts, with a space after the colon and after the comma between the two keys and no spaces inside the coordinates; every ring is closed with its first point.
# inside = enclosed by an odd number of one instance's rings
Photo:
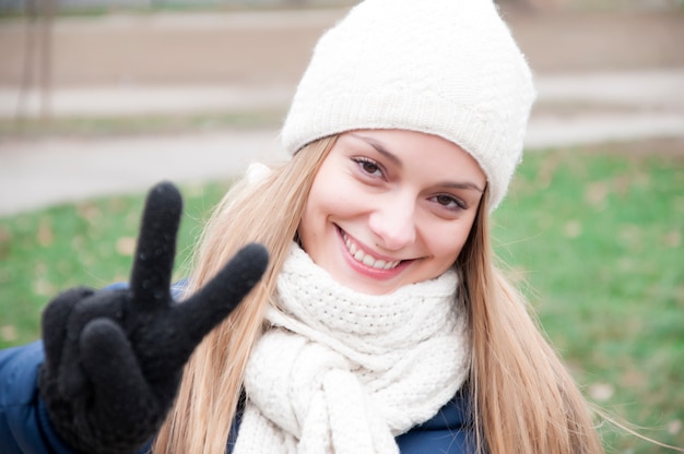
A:
{"type": "Polygon", "coordinates": [[[148,194],[131,272],[137,308],[167,304],[182,198],[170,182],[156,184],[148,194]]]}

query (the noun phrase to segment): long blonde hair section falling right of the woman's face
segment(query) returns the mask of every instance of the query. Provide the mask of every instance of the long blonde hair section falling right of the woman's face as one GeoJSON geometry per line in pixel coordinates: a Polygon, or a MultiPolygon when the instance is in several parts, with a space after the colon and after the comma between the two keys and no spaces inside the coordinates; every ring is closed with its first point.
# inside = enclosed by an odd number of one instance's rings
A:
{"type": "Polygon", "coordinates": [[[527,300],[494,264],[485,206],[486,191],[456,262],[470,315],[469,391],[480,451],[602,453],[586,399],[527,300]]]}

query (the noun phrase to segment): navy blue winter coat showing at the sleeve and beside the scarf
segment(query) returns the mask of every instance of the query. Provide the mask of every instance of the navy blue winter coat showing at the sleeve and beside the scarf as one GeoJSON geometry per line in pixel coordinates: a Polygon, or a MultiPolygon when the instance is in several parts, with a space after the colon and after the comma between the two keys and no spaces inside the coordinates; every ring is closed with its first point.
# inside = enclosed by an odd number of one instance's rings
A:
{"type": "MultiPolygon", "coordinates": [[[[0,453],[75,454],[55,432],[38,395],[43,343],[0,350],[0,453]]],[[[431,420],[397,438],[402,454],[473,453],[467,394],[459,393],[431,420]]]]}

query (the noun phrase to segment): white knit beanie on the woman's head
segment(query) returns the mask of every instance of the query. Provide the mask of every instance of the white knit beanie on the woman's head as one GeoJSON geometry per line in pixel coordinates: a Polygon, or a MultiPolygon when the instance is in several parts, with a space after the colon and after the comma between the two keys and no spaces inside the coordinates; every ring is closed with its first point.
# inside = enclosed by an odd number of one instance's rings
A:
{"type": "Polygon", "coordinates": [[[520,162],[534,96],[492,0],[366,0],[318,41],[282,140],[294,154],[357,129],[441,136],[477,160],[492,211],[520,162]]]}

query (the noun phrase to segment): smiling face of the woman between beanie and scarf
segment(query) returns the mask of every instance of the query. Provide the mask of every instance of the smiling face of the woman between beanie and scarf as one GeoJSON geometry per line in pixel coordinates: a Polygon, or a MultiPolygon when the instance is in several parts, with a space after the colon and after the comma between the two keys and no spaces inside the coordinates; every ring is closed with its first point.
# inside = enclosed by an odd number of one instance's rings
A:
{"type": "Polygon", "coordinates": [[[340,284],[387,294],[453,264],[485,182],[472,156],[436,135],[347,132],[314,179],[299,239],[340,284]]]}

